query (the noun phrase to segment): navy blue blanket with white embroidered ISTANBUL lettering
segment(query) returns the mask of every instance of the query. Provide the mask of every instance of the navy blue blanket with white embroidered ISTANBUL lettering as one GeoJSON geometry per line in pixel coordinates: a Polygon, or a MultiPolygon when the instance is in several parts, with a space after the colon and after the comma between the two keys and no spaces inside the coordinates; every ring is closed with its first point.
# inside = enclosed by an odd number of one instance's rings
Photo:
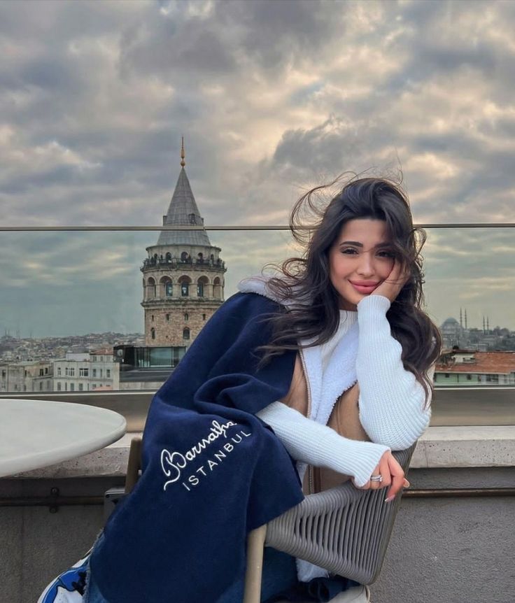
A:
{"type": "Polygon", "coordinates": [[[290,388],[295,352],[258,368],[275,302],[239,293],[155,395],[143,475],[92,553],[109,603],[241,601],[246,534],[302,501],[294,463],[255,413],[290,388]]]}

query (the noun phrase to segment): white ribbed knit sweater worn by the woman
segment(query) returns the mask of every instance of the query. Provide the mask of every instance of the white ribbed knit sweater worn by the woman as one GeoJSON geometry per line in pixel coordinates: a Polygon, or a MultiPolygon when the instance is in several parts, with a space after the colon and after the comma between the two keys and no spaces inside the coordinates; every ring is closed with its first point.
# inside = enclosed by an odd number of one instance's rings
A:
{"type": "MultiPolygon", "coordinates": [[[[404,369],[402,348],[391,336],[390,323],[386,318],[389,307],[390,301],[386,297],[365,297],[358,304],[357,312],[341,311],[339,328],[330,341],[311,348],[311,354],[320,358],[321,391],[332,388],[337,392],[336,397],[325,401],[324,423],[332,405],[345,389],[335,390],[334,381],[344,382],[346,374],[352,375],[355,369],[360,384],[360,422],[371,442],[341,437],[325,424],[320,425],[311,420],[313,417],[306,418],[281,402],[274,402],[258,413],[293,458],[351,475],[357,485],[367,483],[385,451],[411,446],[430,420],[423,387],[414,374],[404,369]],[[336,377],[334,369],[330,370],[330,361],[344,336],[351,336],[356,318],[359,338],[355,367],[340,364],[336,377]]],[[[316,362],[311,366],[316,366],[316,362]]],[[[312,369],[308,377],[309,381],[316,383],[320,376],[313,374],[312,369]]],[[[351,376],[350,381],[355,379],[351,376]]]]}

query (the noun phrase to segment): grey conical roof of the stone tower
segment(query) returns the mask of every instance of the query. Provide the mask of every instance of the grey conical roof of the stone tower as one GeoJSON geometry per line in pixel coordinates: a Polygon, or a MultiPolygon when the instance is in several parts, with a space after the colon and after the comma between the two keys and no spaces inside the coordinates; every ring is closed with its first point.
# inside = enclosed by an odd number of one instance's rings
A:
{"type": "MultiPolygon", "coordinates": [[[[204,219],[200,215],[193,196],[190,180],[186,176],[184,167],[181,167],[167,215],[163,219],[163,225],[202,226],[203,224],[204,219]]],[[[203,230],[164,230],[157,239],[157,245],[205,245],[211,247],[209,237],[203,230]]]]}

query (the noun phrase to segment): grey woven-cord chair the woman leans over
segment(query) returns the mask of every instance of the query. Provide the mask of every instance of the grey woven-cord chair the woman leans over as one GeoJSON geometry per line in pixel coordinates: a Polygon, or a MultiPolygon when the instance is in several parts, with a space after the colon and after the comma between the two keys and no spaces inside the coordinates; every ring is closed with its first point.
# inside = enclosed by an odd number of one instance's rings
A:
{"type": "MultiPolygon", "coordinates": [[[[407,472],[416,444],[394,453],[407,472]]],[[[263,547],[273,546],[362,584],[379,576],[401,493],[384,502],[386,489],[358,490],[348,481],[311,494],[248,535],[244,603],[260,603],[263,547]]]]}

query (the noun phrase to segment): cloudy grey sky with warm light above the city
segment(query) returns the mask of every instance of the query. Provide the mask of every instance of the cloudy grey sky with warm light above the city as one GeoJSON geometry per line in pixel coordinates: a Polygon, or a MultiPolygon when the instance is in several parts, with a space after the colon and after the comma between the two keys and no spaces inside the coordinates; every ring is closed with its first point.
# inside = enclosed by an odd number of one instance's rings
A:
{"type": "MultiPolygon", "coordinates": [[[[182,135],[206,225],[400,167],[418,223],[513,223],[514,30],[513,1],[3,1],[1,225],[159,225],[182,135]]],[[[428,232],[437,322],[515,329],[514,233],[428,232]]],[[[1,333],[143,329],[157,232],[0,237],[1,333]]],[[[226,295],[288,240],[210,237],[226,295]]]]}

